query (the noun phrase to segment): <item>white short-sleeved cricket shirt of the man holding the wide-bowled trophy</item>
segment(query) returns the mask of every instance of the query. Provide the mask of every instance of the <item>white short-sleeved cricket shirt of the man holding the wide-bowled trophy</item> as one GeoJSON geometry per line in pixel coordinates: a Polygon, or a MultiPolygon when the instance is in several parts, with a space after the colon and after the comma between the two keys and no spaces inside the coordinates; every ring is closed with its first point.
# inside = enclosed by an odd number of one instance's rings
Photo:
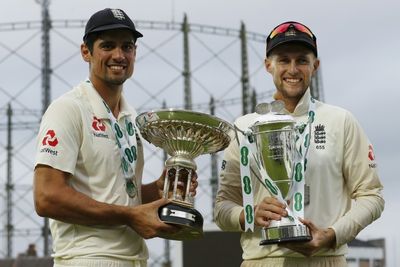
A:
{"type": "MultiPolygon", "coordinates": [[[[124,121],[136,112],[121,97],[117,120],[124,121]]],[[[121,123],[125,127],[125,123],[121,123]]],[[[124,129],[125,130],[125,129],[124,129]]],[[[121,157],[110,120],[96,90],[81,82],[55,100],[44,114],[38,134],[36,165],[43,164],[70,173],[75,190],[109,204],[141,204],[143,147],[138,136],[136,184],[138,194],[129,198],[121,157]]],[[[147,259],[143,239],[128,226],[80,226],[57,220],[50,221],[54,257],[96,257],[134,260],[147,259]]]]}

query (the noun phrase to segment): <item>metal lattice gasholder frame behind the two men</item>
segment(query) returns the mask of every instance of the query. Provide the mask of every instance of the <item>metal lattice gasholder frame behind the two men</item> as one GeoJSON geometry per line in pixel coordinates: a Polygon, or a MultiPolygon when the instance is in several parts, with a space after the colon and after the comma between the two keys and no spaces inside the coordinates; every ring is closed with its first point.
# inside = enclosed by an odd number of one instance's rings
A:
{"type": "MultiPolygon", "coordinates": [[[[33,207],[35,139],[51,99],[87,75],[79,52],[85,23],[51,20],[44,0],[42,21],[0,24],[0,72],[8,74],[0,80],[0,258],[15,257],[29,243],[40,254],[50,254],[48,221],[33,207]]],[[[135,73],[124,94],[139,112],[185,108],[233,122],[271,97],[272,82],[263,65],[265,36],[247,31],[244,23],[239,29],[190,24],[185,15],[182,23],[135,24],[145,37],[139,40],[135,73]]],[[[318,86],[313,85],[316,92],[318,86]]],[[[196,160],[196,208],[205,223],[212,221],[219,156],[196,160]]],[[[145,144],[147,181],[159,177],[164,158],[163,151],[145,144]]],[[[169,242],[154,239],[148,245],[149,265],[168,266],[169,242]]]]}

